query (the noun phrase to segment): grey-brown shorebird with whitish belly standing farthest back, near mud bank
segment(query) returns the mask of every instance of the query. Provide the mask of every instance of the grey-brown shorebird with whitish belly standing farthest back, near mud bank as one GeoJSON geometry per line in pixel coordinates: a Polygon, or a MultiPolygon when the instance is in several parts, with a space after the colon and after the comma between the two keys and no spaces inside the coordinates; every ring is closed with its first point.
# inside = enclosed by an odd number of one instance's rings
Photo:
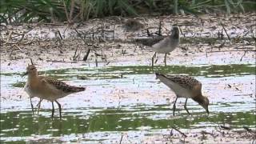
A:
{"type": "Polygon", "coordinates": [[[179,44],[179,30],[178,26],[173,26],[170,36],[154,36],[151,38],[138,38],[135,42],[141,43],[145,46],[150,46],[150,49],[154,51],[152,57],[152,67],[154,66],[154,58],[157,53],[165,54],[164,62],[166,66],[166,55],[178,46],[179,44]]]}

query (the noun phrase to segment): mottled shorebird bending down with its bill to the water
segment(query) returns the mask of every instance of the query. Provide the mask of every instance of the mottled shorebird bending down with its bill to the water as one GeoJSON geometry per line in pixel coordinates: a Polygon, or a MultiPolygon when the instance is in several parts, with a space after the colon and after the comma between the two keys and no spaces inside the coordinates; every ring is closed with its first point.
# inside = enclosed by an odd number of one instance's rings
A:
{"type": "MultiPolygon", "coordinates": [[[[161,82],[166,84],[166,86],[170,87],[171,90],[176,94],[176,99],[174,101],[174,112],[176,109],[176,101],[178,98],[186,98],[186,102],[188,98],[192,98],[195,102],[198,102],[200,106],[202,106],[207,114],[209,114],[208,105],[209,99],[205,96],[202,96],[202,84],[195,78],[186,75],[164,75],[164,74],[155,74],[157,78],[160,79],[161,82]]],[[[189,110],[186,109],[186,102],[184,108],[188,114],[190,114],[189,110]]]]}

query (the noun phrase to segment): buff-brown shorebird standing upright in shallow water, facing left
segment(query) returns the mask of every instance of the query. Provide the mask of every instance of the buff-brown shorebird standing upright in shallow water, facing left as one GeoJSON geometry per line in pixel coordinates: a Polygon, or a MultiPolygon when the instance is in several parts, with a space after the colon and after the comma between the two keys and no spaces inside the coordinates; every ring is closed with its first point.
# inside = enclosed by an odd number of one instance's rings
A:
{"type": "Polygon", "coordinates": [[[34,65],[28,65],[26,67],[26,73],[23,76],[25,75],[28,75],[28,78],[24,90],[30,96],[32,112],[34,113],[31,98],[40,98],[39,106],[42,99],[46,99],[52,103],[52,118],[54,118],[54,102],[58,104],[59,115],[62,118],[62,106],[57,101],[58,98],[85,90],[84,87],[70,86],[54,78],[38,76],[38,70],[34,65]]]}

